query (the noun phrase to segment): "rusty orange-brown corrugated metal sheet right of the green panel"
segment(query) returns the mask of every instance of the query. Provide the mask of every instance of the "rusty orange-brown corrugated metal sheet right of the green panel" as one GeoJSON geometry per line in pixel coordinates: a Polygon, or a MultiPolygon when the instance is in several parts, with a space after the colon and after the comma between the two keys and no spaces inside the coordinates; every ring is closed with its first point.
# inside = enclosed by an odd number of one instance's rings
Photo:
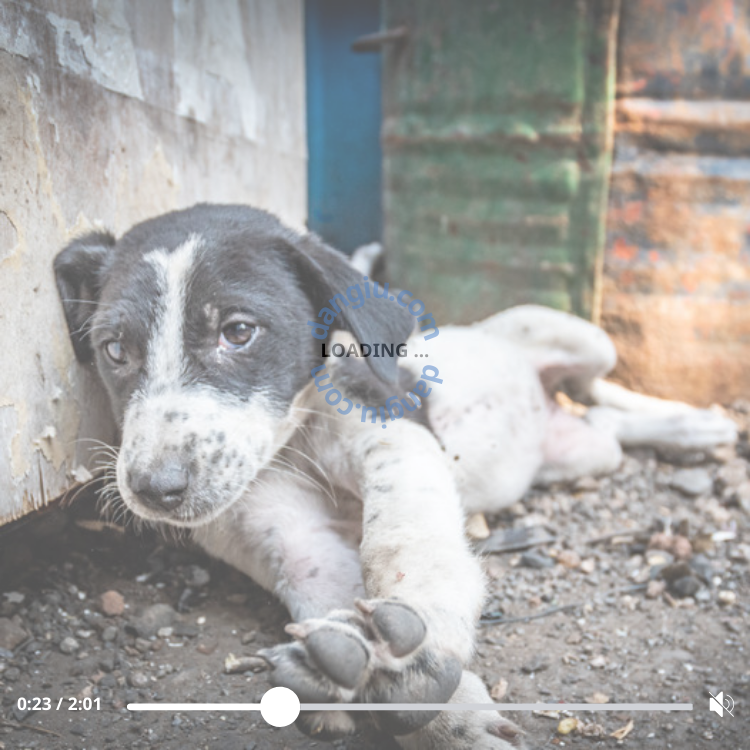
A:
{"type": "Polygon", "coordinates": [[[750,7],[631,0],[620,20],[601,320],[617,377],[750,394],[750,7]]]}

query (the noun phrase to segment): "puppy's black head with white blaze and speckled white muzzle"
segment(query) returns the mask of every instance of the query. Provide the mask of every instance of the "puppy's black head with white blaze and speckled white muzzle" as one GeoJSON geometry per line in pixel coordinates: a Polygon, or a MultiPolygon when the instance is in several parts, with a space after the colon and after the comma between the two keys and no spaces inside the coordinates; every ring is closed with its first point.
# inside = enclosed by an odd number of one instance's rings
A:
{"type": "MultiPolygon", "coordinates": [[[[319,364],[307,321],[362,281],[270,214],[211,205],[119,241],[76,240],[55,273],[76,356],[95,363],[120,425],[120,495],[137,515],[181,526],[229,507],[288,438],[295,395],[319,364]]],[[[405,310],[370,299],[331,330],[400,343],[411,327],[405,310]]],[[[395,383],[395,358],[368,364],[395,383]]]]}

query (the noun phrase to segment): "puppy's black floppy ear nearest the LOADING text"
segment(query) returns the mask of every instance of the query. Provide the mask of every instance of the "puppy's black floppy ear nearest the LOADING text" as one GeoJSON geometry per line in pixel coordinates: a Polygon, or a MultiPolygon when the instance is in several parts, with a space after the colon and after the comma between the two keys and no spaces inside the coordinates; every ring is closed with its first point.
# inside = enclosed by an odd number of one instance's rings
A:
{"type": "MultiPolygon", "coordinates": [[[[348,302],[348,307],[340,304],[341,312],[336,315],[330,330],[350,331],[358,343],[386,343],[395,347],[403,344],[414,329],[414,319],[395,300],[370,297],[356,309],[347,298],[347,289],[359,285],[364,292],[362,275],[353,268],[345,255],[325,245],[314,234],[308,234],[294,243],[297,250],[298,267],[301,270],[302,288],[310,297],[315,313],[324,307],[331,309],[330,299],[340,294],[348,302]]],[[[372,285],[370,285],[372,291],[372,285]]],[[[382,293],[382,290],[380,290],[382,293]]],[[[338,298],[337,298],[338,301],[338,298]]],[[[365,362],[384,382],[398,382],[398,357],[367,357],[365,362]]]]}

